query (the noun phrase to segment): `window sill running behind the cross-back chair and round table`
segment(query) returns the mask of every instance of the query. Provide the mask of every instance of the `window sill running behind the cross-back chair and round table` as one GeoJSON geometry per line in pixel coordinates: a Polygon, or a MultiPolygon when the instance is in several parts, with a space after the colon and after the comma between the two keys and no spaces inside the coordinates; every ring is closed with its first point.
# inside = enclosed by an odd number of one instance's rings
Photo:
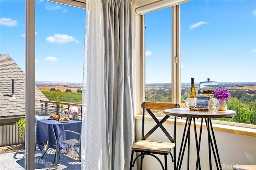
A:
{"type": "MultiPolygon", "coordinates": [[[[163,117],[159,117],[156,116],[158,120],[161,120],[163,117]]],[[[142,119],[142,115],[135,115],[135,119],[142,119]]],[[[145,115],[145,119],[148,121],[154,121],[154,119],[152,119],[151,116],[149,115],[145,115]]],[[[235,134],[239,134],[239,135],[248,135],[248,136],[253,136],[256,137],[256,128],[252,127],[255,125],[249,125],[248,127],[241,127],[241,126],[236,126],[236,125],[231,125],[232,123],[227,122],[227,124],[222,124],[223,121],[220,121],[222,123],[216,123],[218,121],[214,121],[212,120],[212,126],[214,128],[214,131],[222,131],[222,132],[226,132],[226,133],[235,133],[235,134]],[[251,127],[250,127],[251,126],[251,127]]],[[[174,124],[174,118],[169,118],[167,119],[164,123],[170,123],[170,124],[174,124]]],[[[177,125],[182,125],[184,126],[186,123],[186,118],[177,118],[177,125]]],[[[196,121],[196,127],[200,128],[200,124],[201,121],[200,119],[198,119],[196,121]]],[[[233,123],[236,124],[236,123],[233,123]]],[[[237,124],[241,124],[241,123],[237,123],[237,124]]],[[[191,123],[191,126],[193,127],[194,122],[191,123]]],[[[203,122],[203,129],[206,129],[206,125],[205,122],[203,122]]]]}

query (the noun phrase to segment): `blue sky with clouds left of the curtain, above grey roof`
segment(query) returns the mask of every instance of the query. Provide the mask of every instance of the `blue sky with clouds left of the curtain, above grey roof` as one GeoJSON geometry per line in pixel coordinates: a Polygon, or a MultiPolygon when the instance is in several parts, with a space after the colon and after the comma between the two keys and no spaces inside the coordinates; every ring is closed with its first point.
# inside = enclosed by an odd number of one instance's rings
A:
{"type": "MultiPolygon", "coordinates": [[[[86,10],[35,3],[36,80],[82,82],[86,10]]],[[[0,1],[0,54],[25,68],[25,1],[0,1]],[[10,10],[12,9],[12,10],[10,10]]]]}

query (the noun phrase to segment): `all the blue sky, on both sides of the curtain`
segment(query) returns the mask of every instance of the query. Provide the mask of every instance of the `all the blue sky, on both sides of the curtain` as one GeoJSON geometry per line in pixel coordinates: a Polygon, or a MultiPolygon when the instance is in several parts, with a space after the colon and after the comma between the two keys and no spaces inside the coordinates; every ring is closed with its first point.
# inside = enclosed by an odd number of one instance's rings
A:
{"type": "MultiPolygon", "coordinates": [[[[0,54],[24,70],[24,0],[0,0],[0,54]],[[12,9],[12,10],[10,10],[12,9]]],[[[86,10],[36,1],[36,80],[82,82],[86,10]]],[[[146,83],[171,82],[171,8],[145,16],[146,83]]],[[[256,1],[181,5],[181,82],[256,82],[256,1]]]]}

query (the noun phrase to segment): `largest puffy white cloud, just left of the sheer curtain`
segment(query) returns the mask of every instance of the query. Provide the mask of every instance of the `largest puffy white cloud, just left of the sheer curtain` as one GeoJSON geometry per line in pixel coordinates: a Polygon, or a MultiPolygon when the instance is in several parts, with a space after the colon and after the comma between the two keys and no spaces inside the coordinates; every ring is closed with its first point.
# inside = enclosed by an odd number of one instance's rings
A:
{"type": "Polygon", "coordinates": [[[68,42],[75,42],[75,43],[79,43],[78,39],[76,39],[75,37],[69,36],[67,34],[54,34],[53,37],[47,37],[46,41],[48,41],[49,43],[57,43],[57,44],[65,44],[68,42]]]}

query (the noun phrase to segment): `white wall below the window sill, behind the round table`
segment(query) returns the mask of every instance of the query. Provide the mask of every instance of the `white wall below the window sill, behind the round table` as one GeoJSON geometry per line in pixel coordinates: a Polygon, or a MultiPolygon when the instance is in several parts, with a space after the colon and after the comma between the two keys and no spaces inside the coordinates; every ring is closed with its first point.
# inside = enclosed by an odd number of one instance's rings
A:
{"type": "MultiPolygon", "coordinates": [[[[193,121],[192,121],[193,123],[193,121]]],[[[146,121],[145,126],[150,126],[152,128],[156,123],[154,121],[146,121]]],[[[135,120],[136,126],[136,141],[141,138],[141,119],[135,120]]],[[[173,124],[165,123],[164,127],[173,136],[173,124]]],[[[176,131],[176,153],[178,157],[180,143],[182,139],[184,126],[177,125],[176,131]]],[[[197,129],[199,133],[200,129],[197,129]]],[[[147,129],[145,130],[147,131],[147,129]]],[[[236,135],[234,133],[225,133],[220,131],[214,131],[216,142],[218,146],[218,152],[220,155],[220,162],[224,170],[232,170],[233,165],[256,165],[256,137],[246,136],[246,135],[236,135]]],[[[152,137],[148,140],[162,140],[168,141],[164,133],[161,130],[157,130],[152,134],[152,137]]],[[[158,156],[162,162],[164,162],[164,156],[158,156]]],[[[207,130],[203,129],[202,131],[202,140],[200,147],[200,162],[202,170],[209,169],[209,155],[208,155],[208,136],[207,130]]],[[[194,170],[196,167],[196,145],[194,138],[194,128],[190,129],[190,169],[194,170]]],[[[140,169],[140,158],[137,161],[137,169],[140,169]]],[[[144,170],[161,170],[161,166],[156,158],[152,156],[145,156],[143,160],[143,169],[144,170]]],[[[171,162],[171,157],[168,156],[168,170],[173,169],[173,163],[171,162]]],[[[182,170],[187,169],[187,151],[185,151],[182,170]]],[[[216,169],[216,164],[214,157],[212,155],[212,169],[216,169]]]]}

